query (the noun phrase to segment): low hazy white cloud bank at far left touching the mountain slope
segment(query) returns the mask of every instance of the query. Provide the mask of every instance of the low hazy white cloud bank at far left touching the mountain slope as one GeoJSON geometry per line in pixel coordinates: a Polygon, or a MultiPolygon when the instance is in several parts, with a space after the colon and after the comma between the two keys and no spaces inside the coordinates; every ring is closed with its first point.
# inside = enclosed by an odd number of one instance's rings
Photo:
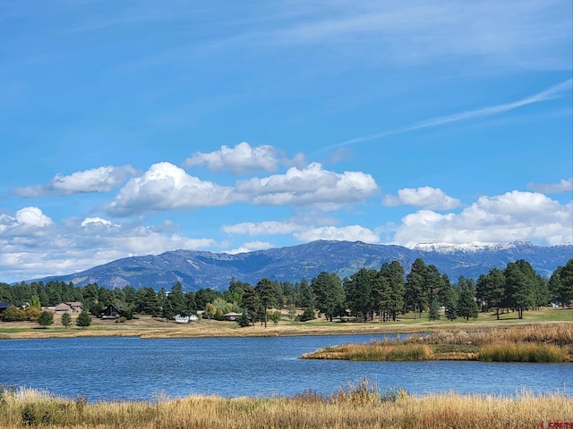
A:
{"type": "Polygon", "coordinates": [[[79,272],[123,257],[168,250],[220,246],[212,238],[165,233],[141,224],[115,224],[100,217],[54,223],[38,207],[0,214],[0,273],[7,281],[79,272]],[[49,251],[47,251],[49,249],[49,251]]]}

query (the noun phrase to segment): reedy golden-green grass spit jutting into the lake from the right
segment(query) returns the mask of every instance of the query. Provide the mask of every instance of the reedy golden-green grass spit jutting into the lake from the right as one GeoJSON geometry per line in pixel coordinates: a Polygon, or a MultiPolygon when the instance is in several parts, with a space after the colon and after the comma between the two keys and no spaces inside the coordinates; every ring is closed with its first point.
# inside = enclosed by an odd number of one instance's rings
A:
{"type": "Polygon", "coordinates": [[[327,347],[303,358],[573,362],[573,324],[524,324],[473,331],[440,331],[427,336],[414,335],[405,341],[384,340],[327,347]]]}

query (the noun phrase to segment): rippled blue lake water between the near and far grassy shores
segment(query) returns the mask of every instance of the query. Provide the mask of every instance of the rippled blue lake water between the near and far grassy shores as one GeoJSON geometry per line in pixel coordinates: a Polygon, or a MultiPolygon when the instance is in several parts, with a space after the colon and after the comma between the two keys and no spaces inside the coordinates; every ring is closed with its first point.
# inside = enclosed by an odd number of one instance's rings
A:
{"type": "Polygon", "coordinates": [[[522,389],[573,396],[573,365],[481,362],[301,360],[329,345],[381,335],[277,338],[69,338],[0,341],[0,385],[89,400],[152,400],[158,395],[330,393],[369,378],[410,393],[513,395],[522,389]]]}

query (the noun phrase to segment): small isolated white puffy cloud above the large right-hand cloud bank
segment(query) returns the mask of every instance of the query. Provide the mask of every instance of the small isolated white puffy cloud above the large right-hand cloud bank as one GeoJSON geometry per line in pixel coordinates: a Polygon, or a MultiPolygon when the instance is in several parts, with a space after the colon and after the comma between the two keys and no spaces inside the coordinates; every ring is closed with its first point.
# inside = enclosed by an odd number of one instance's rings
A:
{"type": "Polygon", "coordinates": [[[451,198],[440,188],[423,186],[421,188],[404,188],[398,190],[398,196],[387,195],[384,206],[415,206],[432,210],[447,210],[459,206],[457,198],[451,198]]]}

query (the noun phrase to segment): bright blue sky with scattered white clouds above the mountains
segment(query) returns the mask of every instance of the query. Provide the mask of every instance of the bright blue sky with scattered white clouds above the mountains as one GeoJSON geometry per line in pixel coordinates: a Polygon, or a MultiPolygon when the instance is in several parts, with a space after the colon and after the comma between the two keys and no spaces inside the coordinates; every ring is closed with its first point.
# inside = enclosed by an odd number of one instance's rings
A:
{"type": "Polygon", "coordinates": [[[573,241],[570,0],[0,0],[0,282],[573,241]]]}

